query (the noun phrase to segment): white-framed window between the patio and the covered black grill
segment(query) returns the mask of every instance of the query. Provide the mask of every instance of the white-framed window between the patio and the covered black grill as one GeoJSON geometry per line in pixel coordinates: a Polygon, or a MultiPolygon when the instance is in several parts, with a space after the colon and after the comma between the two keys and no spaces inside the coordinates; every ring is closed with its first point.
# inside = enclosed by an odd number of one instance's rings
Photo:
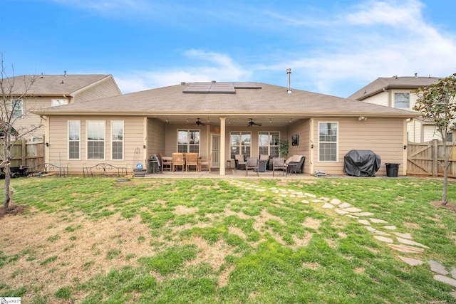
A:
{"type": "Polygon", "coordinates": [[[338,122],[318,123],[318,162],[337,162],[338,122]]]}

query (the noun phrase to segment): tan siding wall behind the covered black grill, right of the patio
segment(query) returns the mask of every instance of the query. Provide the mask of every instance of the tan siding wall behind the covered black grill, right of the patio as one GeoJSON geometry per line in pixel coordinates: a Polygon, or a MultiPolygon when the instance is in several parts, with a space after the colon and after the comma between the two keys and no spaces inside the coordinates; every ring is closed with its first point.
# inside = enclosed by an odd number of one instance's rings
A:
{"type": "MultiPolygon", "coordinates": [[[[378,175],[385,175],[385,163],[402,164],[404,124],[401,119],[368,118],[359,121],[356,118],[318,118],[314,120],[314,169],[323,169],[327,174],[343,174],[343,157],[350,150],[372,150],[381,157],[378,175]],[[318,162],[318,123],[338,122],[338,159],[336,162],[318,162]]],[[[403,175],[400,166],[399,174],[403,175]]]]}

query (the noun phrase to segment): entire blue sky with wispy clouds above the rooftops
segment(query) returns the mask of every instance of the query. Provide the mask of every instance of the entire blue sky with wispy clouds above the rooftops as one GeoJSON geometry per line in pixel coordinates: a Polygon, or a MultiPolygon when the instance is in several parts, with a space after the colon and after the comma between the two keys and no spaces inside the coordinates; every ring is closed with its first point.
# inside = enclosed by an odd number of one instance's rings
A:
{"type": "Polygon", "coordinates": [[[348,97],[456,73],[454,0],[0,0],[9,76],[112,74],[123,93],[260,82],[348,97]]]}

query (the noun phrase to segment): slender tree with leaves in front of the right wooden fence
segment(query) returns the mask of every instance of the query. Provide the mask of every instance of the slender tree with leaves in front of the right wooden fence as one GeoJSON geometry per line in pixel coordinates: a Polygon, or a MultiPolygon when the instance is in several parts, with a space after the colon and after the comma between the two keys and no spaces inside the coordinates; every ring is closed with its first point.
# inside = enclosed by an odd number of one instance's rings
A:
{"type": "MultiPolygon", "coordinates": [[[[446,205],[448,202],[448,168],[450,167],[451,155],[447,151],[447,135],[456,127],[456,73],[447,78],[440,79],[428,88],[418,88],[415,93],[418,99],[413,110],[421,112],[423,117],[434,122],[435,129],[442,138],[443,163],[439,162],[439,164],[443,167],[442,204],[446,205]]],[[[455,141],[452,141],[450,145],[454,147],[455,141]]]]}

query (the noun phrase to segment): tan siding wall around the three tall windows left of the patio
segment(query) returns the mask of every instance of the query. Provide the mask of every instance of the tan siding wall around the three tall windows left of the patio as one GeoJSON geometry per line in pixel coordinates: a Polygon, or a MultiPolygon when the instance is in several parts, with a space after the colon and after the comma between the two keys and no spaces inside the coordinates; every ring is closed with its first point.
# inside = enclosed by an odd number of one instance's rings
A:
{"type": "Polygon", "coordinates": [[[48,155],[48,162],[58,166],[69,166],[70,172],[82,172],[82,164],[91,167],[101,162],[113,164],[117,167],[128,167],[128,172],[134,169],[137,162],[145,164],[146,156],[145,149],[140,143],[143,142],[145,135],[143,134],[143,117],[125,117],[119,118],[100,116],[100,117],[49,117],[48,124],[50,134],[46,139],[52,149],[48,155]],[[81,122],[81,159],[68,159],[68,121],[81,122]],[[111,159],[111,121],[123,120],[124,122],[124,159],[111,159]],[[86,145],[86,123],[88,121],[104,121],[105,122],[105,159],[87,159],[86,145]]]}

